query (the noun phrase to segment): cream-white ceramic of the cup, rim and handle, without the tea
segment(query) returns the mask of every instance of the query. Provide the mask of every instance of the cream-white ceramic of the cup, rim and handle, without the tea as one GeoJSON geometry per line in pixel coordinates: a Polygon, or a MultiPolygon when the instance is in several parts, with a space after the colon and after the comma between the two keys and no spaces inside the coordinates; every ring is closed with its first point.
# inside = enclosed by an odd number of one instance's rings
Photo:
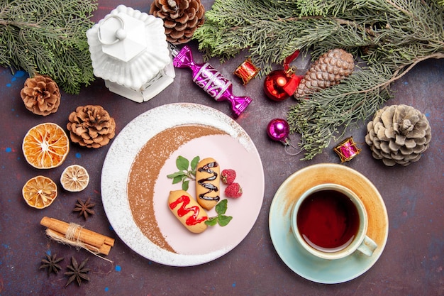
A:
{"type": "Polygon", "coordinates": [[[323,259],[340,259],[346,256],[350,256],[356,251],[359,251],[365,256],[372,256],[374,250],[377,248],[377,244],[366,235],[367,226],[367,212],[365,211],[365,206],[364,204],[362,204],[360,198],[357,197],[357,195],[353,191],[349,190],[347,187],[337,184],[321,184],[311,187],[309,190],[306,190],[306,192],[301,194],[301,197],[299,197],[296,204],[294,204],[292,212],[292,230],[294,236],[296,237],[296,240],[306,251],[318,258],[323,259]],[[357,230],[355,232],[355,235],[352,237],[352,239],[349,240],[347,244],[345,244],[345,246],[341,246],[338,248],[315,248],[311,246],[309,242],[307,242],[306,239],[304,239],[303,235],[299,232],[297,216],[299,214],[299,211],[301,210],[301,204],[304,202],[305,199],[313,197],[313,194],[315,192],[325,190],[334,190],[342,193],[343,195],[348,197],[351,202],[353,202],[357,210],[357,215],[359,216],[359,219],[357,219],[357,230]]]}

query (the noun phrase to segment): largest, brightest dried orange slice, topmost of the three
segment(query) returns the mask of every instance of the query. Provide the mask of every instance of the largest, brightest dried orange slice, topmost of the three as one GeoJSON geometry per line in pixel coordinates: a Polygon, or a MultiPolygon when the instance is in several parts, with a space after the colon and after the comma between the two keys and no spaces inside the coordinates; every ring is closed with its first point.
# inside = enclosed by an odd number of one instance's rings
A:
{"type": "Polygon", "coordinates": [[[26,133],[22,150],[34,168],[57,168],[70,152],[70,140],[57,124],[38,124],[26,133]]]}

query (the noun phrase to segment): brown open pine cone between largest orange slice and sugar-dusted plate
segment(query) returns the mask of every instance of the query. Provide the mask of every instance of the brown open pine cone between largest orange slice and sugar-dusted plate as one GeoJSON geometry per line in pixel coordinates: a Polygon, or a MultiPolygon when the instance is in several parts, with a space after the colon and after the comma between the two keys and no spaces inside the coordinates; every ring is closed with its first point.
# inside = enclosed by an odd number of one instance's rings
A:
{"type": "Polygon", "coordinates": [[[71,141],[80,146],[100,148],[116,134],[116,122],[102,106],[78,106],[68,120],[71,141]]]}

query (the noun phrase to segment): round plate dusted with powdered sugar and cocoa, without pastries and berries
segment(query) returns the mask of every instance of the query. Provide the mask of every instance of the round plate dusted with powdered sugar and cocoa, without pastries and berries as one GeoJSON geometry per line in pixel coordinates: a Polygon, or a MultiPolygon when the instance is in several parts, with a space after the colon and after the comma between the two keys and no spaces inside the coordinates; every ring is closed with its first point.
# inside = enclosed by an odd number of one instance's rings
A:
{"type": "MultiPolygon", "coordinates": [[[[162,147],[161,142],[157,142],[156,146],[162,147]]],[[[221,185],[221,190],[224,188],[221,185]]],[[[194,181],[190,182],[188,192],[195,195],[194,181]]],[[[102,169],[101,197],[111,226],[133,251],[165,265],[199,265],[228,253],[248,235],[262,207],[264,172],[251,138],[226,114],[199,104],[166,104],[140,114],[114,139],[102,169]],[[162,240],[169,246],[166,248],[162,243],[156,243],[157,238],[153,239],[150,233],[141,230],[143,225],[140,225],[140,219],[135,221],[135,216],[140,214],[134,210],[134,197],[128,197],[128,180],[134,176],[132,168],[140,150],[146,149],[152,137],[162,135],[162,131],[168,128],[187,125],[218,128],[226,134],[197,136],[170,149],[167,151],[169,157],[152,178],[155,180],[147,182],[154,193],[152,207],[148,207],[151,210],[144,215],[155,225],[146,226],[160,229],[162,240]],[[243,188],[243,196],[228,199],[226,215],[233,216],[230,224],[225,227],[211,226],[202,234],[192,234],[170,212],[167,207],[168,195],[170,190],[181,189],[181,184],[173,185],[167,175],[177,171],[175,160],[178,155],[189,160],[197,155],[201,159],[212,157],[218,161],[221,169],[236,170],[238,176],[235,182],[239,182],[243,188]]],[[[143,204],[138,207],[143,207],[143,204]]],[[[216,214],[214,209],[208,213],[209,216],[216,214]]]]}

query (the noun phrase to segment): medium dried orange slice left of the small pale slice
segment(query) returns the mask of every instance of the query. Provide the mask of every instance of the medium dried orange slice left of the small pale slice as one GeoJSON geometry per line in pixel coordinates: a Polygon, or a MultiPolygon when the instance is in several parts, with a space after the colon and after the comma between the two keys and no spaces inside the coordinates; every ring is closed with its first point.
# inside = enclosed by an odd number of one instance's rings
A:
{"type": "Polygon", "coordinates": [[[30,207],[43,209],[52,204],[57,197],[57,185],[48,177],[37,176],[26,182],[21,193],[30,207]]]}

